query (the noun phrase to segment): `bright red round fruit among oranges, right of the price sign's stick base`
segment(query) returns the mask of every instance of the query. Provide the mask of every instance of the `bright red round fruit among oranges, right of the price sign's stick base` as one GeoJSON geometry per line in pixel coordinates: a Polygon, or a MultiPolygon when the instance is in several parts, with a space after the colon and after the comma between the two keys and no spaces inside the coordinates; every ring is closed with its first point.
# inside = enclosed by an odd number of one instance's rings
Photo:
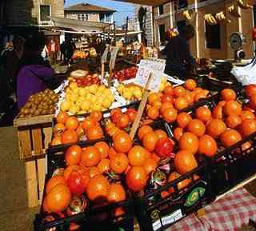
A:
{"type": "Polygon", "coordinates": [[[170,157],[174,149],[174,142],[170,140],[170,138],[160,138],[158,139],[155,145],[155,152],[158,154],[159,157],[170,157]]]}

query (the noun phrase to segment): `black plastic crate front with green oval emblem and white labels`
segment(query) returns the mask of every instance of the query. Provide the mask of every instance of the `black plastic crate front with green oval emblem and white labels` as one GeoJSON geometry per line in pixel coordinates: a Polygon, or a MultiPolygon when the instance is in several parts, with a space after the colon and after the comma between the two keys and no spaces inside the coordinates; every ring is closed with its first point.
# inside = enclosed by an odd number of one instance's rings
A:
{"type": "Polygon", "coordinates": [[[202,164],[182,177],[135,199],[135,213],[142,231],[162,231],[190,213],[210,204],[215,196],[210,185],[210,169],[202,164]],[[195,177],[195,176],[199,176],[195,177]],[[178,189],[178,183],[190,179],[190,185],[178,189]],[[161,193],[174,189],[168,197],[161,193]]]}

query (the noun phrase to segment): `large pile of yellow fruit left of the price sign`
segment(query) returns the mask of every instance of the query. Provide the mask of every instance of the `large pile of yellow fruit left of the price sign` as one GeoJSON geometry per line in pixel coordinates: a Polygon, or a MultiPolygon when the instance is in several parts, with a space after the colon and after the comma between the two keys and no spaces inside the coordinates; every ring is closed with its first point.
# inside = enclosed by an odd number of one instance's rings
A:
{"type": "Polygon", "coordinates": [[[86,114],[93,110],[108,110],[114,101],[111,90],[104,85],[92,84],[78,87],[77,82],[70,82],[60,110],[72,115],[86,114]]]}

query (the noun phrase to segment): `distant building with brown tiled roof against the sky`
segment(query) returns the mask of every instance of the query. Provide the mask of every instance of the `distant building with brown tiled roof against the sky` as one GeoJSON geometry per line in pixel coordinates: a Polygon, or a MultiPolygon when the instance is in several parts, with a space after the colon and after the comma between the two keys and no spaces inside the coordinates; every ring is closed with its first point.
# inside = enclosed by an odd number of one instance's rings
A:
{"type": "Polygon", "coordinates": [[[89,3],[80,3],[66,7],[65,18],[90,21],[90,22],[114,22],[115,10],[102,6],[94,6],[89,3]]]}

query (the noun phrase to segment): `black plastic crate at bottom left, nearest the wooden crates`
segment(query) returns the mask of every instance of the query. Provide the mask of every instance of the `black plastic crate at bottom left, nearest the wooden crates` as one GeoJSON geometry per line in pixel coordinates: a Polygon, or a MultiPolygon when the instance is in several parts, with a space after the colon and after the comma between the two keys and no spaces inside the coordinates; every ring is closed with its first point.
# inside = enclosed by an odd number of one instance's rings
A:
{"type": "MultiPolygon", "coordinates": [[[[106,141],[102,139],[101,141],[106,141]]],[[[80,145],[81,147],[86,147],[88,145],[94,145],[97,141],[89,141],[86,144],[80,145]]],[[[61,170],[66,167],[64,161],[64,154],[69,145],[58,146],[53,149],[49,149],[47,152],[47,174],[46,182],[50,177],[56,173],[56,170],[61,170]]],[[[121,178],[121,181],[123,179],[121,178]]],[[[124,185],[124,184],[122,184],[124,185]]],[[[125,187],[125,185],[124,185],[125,187]]],[[[126,189],[126,188],[125,188],[126,189]]],[[[84,193],[82,194],[84,195],[84,193]]],[[[85,195],[84,195],[85,196],[85,195]]],[[[127,199],[126,201],[121,201],[118,203],[113,203],[109,205],[98,206],[87,201],[86,209],[83,213],[78,213],[73,216],[60,216],[59,213],[50,213],[46,214],[41,212],[36,215],[34,220],[34,230],[35,231],[45,231],[53,228],[54,230],[59,231],[69,231],[70,223],[76,223],[79,225],[80,231],[101,231],[104,230],[113,230],[113,231],[133,231],[134,230],[134,201],[129,192],[126,191],[127,199]],[[114,217],[114,209],[122,207],[125,211],[122,215],[114,217]],[[54,217],[50,221],[46,221],[46,215],[54,217]],[[54,220],[54,221],[52,221],[54,220]]],[[[86,197],[86,196],[85,196],[86,197]]],[[[43,197],[44,198],[44,197],[43,197]]],[[[62,215],[66,213],[62,213],[62,215]]]]}

